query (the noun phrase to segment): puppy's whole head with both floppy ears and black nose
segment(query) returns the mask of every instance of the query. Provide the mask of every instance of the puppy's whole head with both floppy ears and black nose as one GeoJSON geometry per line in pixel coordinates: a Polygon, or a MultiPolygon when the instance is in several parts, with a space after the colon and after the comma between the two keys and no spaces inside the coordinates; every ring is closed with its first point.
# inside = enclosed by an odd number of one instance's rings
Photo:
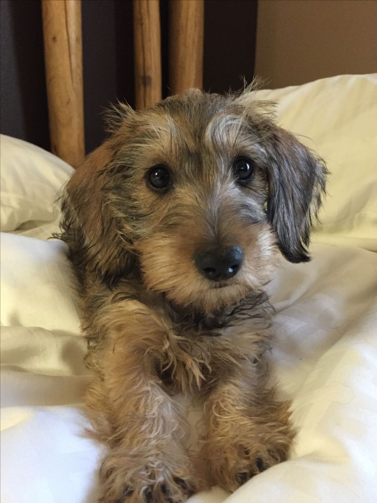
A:
{"type": "Polygon", "coordinates": [[[252,92],[189,91],[119,108],[68,184],[66,233],[104,283],[137,264],[146,289],[211,311],[260,289],[279,248],[308,260],[324,188],[324,166],[252,92]]]}

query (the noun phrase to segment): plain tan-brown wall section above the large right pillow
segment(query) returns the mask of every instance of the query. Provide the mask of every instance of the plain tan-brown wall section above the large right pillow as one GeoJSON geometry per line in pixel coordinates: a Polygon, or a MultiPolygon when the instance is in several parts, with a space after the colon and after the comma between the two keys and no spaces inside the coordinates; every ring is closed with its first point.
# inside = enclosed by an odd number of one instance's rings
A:
{"type": "Polygon", "coordinates": [[[266,87],[377,72],[377,0],[259,0],[255,74],[266,87]]]}

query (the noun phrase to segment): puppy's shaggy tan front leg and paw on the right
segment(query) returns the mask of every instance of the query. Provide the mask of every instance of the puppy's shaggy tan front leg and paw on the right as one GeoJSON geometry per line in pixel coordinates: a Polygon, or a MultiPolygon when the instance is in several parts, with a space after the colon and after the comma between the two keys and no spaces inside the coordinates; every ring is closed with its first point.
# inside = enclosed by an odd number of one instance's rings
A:
{"type": "Polygon", "coordinates": [[[219,380],[206,400],[202,457],[212,484],[228,491],[284,461],[294,437],[289,404],[276,401],[264,381],[257,365],[244,360],[219,380]]]}

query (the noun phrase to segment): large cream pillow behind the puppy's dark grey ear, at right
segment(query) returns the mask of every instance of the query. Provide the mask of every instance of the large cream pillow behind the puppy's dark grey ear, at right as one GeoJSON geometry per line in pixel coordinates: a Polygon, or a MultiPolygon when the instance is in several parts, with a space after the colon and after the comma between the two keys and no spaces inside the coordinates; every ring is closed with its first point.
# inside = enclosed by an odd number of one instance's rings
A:
{"type": "Polygon", "coordinates": [[[327,163],[328,196],[313,240],[377,251],[377,73],[262,90],[279,125],[327,163]]]}

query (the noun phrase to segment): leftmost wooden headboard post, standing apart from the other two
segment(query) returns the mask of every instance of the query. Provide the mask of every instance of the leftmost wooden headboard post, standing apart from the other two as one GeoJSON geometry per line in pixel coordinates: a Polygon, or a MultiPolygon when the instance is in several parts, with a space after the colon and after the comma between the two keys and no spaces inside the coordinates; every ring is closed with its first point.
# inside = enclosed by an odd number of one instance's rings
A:
{"type": "Polygon", "coordinates": [[[81,2],[42,0],[51,148],[75,166],[85,155],[81,2]]]}

